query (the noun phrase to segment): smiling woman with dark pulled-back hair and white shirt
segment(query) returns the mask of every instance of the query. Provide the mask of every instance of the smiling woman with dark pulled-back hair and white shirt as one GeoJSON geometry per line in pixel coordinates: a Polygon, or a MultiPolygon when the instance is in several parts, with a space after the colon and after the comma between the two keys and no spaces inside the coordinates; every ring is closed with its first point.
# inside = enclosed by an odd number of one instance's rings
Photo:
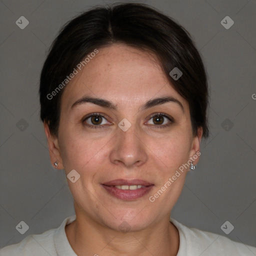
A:
{"type": "Polygon", "coordinates": [[[188,33],[142,4],[68,22],[40,78],[50,159],[75,215],[0,255],[253,255],[170,212],[207,137],[207,79],[188,33]]]}

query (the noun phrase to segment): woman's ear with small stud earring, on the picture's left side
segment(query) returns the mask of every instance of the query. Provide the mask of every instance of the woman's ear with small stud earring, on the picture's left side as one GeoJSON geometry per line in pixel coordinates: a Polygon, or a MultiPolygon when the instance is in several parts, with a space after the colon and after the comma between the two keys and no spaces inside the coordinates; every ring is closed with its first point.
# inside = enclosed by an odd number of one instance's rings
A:
{"type": "Polygon", "coordinates": [[[48,125],[48,123],[46,123],[46,121],[43,122],[43,126],[44,126],[44,132],[45,132],[47,140],[48,140],[48,148],[49,148],[51,164],[56,169],[63,169],[64,166],[62,164],[62,158],[60,155],[58,138],[51,134],[51,132],[49,130],[49,125],[48,125]],[[57,166],[54,165],[55,161],[58,162],[57,166]]]}

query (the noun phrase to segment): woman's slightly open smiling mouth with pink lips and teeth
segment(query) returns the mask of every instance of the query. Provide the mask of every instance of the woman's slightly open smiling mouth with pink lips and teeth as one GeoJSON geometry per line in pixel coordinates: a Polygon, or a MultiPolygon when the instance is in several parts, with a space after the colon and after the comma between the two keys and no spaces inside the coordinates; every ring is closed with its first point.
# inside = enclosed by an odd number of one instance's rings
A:
{"type": "Polygon", "coordinates": [[[135,200],[144,196],[154,184],[141,179],[115,179],[101,184],[111,196],[123,200],[135,200]]]}

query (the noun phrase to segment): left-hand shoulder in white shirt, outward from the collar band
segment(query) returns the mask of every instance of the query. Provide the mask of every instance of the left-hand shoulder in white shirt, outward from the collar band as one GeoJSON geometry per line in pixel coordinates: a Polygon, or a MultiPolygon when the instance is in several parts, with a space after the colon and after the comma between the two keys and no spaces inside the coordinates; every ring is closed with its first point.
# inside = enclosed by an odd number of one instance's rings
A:
{"type": "Polygon", "coordinates": [[[19,243],[11,244],[0,249],[0,256],[52,255],[55,256],[53,236],[56,229],[47,230],[41,234],[30,234],[19,243]]]}

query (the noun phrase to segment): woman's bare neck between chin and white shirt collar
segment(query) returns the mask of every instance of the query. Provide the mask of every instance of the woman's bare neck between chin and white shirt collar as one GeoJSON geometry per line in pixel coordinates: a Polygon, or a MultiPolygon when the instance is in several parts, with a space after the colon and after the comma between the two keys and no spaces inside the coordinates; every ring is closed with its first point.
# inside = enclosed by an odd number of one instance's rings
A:
{"type": "Polygon", "coordinates": [[[65,232],[78,256],[176,256],[179,247],[178,230],[168,216],[143,230],[121,232],[76,214],[65,232]]]}

